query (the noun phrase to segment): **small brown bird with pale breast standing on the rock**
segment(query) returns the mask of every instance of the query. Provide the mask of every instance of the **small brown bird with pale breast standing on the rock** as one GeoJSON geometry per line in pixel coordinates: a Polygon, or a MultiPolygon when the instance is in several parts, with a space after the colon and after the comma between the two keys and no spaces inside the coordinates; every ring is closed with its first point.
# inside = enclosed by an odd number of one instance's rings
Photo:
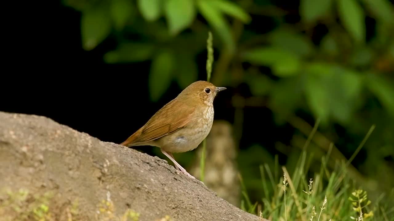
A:
{"type": "Polygon", "coordinates": [[[207,81],[192,83],[121,145],[159,147],[175,168],[195,179],[175,161],[172,153],[191,151],[208,136],[214,120],[214,99],[225,89],[207,81]]]}

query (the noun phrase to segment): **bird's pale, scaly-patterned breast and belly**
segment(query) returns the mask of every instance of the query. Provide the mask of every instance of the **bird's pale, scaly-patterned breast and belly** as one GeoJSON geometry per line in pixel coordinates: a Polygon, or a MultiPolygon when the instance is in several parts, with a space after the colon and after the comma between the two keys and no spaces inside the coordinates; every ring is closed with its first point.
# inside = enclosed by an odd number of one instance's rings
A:
{"type": "Polygon", "coordinates": [[[159,138],[156,143],[160,148],[172,153],[182,153],[191,151],[208,136],[212,122],[214,120],[214,107],[207,105],[200,116],[195,116],[193,120],[184,128],[159,138]]]}

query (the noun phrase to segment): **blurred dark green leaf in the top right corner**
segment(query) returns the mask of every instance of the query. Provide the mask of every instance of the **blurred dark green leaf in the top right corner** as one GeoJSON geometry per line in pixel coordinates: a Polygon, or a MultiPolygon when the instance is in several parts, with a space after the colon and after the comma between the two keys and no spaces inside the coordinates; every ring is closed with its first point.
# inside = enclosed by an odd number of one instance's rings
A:
{"type": "Polygon", "coordinates": [[[386,23],[394,20],[394,9],[389,0],[364,0],[364,2],[375,18],[386,23]]]}

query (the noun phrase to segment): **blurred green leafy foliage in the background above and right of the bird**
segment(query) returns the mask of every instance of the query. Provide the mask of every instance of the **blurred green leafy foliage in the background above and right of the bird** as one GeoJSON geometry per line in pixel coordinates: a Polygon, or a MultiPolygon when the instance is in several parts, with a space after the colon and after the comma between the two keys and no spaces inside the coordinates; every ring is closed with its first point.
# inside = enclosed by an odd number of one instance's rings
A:
{"type": "MultiPolygon", "coordinates": [[[[384,160],[394,158],[394,6],[389,0],[63,2],[81,11],[85,50],[112,36],[117,47],[104,55],[107,63],[151,62],[152,101],[158,101],[172,81],[184,88],[205,71],[197,57],[206,56],[212,31],[217,53],[212,83],[247,83],[252,96],[266,98],[264,105],[278,125],[300,112],[319,119],[319,131],[340,142],[336,145],[347,156],[376,125],[363,147],[366,158],[359,169],[381,190],[394,182],[393,163],[384,160]]],[[[292,126],[302,131],[300,123],[292,126]]],[[[292,145],[302,143],[302,136],[307,134],[294,134],[292,145]]],[[[327,152],[314,143],[316,155],[327,152]]],[[[245,178],[253,190],[260,185],[259,172],[250,165],[273,159],[262,148],[249,151],[258,159],[249,152],[241,153],[239,161],[244,177],[257,177],[245,178]]],[[[299,151],[282,152],[291,164],[299,151]]]]}

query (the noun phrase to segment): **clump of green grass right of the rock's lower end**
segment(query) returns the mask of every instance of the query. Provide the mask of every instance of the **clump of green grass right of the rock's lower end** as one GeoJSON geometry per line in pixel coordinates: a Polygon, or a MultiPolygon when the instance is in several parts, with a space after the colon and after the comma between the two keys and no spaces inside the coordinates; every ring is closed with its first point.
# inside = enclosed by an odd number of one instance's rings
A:
{"type": "MultiPolygon", "coordinates": [[[[367,133],[372,133],[374,126],[367,133]]],[[[307,140],[313,136],[314,129],[307,140]]],[[[366,138],[357,151],[361,149],[366,138]]],[[[368,220],[393,221],[394,208],[388,202],[394,199],[394,188],[388,194],[382,193],[378,200],[372,202],[368,193],[362,190],[362,183],[356,183],[348,175],[348,162],[336,162],[334,169],[327,167],[330,160],[331,149],[321,157],[320,170],[312,177],[307,175],[310,170],[312,154],[304,146],[295,166],[282,166],[283,176],[275,180],[271,171],[279,168],[275,160],[274,168],[268,164],[260,165],[261,188],[264,197],[261,202],[251,203],[247,195],[242,177],[241,209],[252,214],[260,215],[272,221],[339,221],[339,220],[368,220]],[[292,168],[291,174],[288,168],[292,168]]],[[[314,167],[317,167],[315,165],[314,167]]]]}

